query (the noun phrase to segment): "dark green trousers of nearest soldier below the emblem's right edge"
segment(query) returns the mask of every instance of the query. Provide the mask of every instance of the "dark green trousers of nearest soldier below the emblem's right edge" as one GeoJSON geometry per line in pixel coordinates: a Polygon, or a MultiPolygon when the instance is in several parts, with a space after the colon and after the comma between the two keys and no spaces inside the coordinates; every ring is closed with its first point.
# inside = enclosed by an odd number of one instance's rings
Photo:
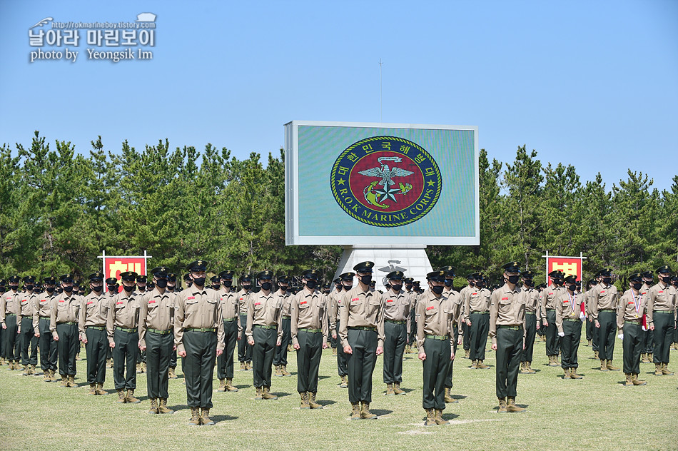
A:
{"type": "Polygon", "coordinates": [[[450,373],[450,340],[424,340],[426,360],[424,366],[424,387],[422,406],[425,409],[445,409],[445,379],[450,373]]]}

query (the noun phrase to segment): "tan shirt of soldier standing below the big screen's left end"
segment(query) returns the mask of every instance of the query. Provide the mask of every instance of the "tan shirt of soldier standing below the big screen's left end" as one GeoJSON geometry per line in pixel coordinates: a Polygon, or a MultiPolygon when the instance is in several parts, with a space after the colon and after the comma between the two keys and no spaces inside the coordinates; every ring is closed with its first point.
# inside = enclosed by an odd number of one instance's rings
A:
{"type": "Polygon", "coordinates": [[[331,293],[323,295],[318,290],[309,293],[306,288],[290,296],[290,313],[292,314],[290,330],[293,345],[299,344],[297,338],[299,329],[320,329],[323,334],[323,345],[327,345],[329,326],[326,309],[330,302],[331,293]]]}

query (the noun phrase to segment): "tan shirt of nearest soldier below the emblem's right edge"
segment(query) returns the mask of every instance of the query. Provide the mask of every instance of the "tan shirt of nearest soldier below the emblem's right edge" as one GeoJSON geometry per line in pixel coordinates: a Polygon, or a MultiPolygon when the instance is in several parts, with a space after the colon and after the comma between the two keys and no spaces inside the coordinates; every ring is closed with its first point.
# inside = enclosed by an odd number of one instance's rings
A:
{"type": "Polygon", "coordinates": [[[454,349],[455,305],[447,293],[443,290],[440,298],[437,298],[431,290],[426,290],[420,295],[416,310],[417,346],[420,352],[424,349],[422,346],[426,341],[426,335],[449,336],[450,346],[454,349]]]}

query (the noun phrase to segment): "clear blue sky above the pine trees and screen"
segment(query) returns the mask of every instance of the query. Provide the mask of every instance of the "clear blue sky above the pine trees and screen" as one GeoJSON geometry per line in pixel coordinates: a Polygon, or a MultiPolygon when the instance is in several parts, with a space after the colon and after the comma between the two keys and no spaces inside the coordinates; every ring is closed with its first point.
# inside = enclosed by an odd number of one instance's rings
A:
{"type": "Polygon", "coordinates": [[[527,144],[608,188],[628,168],[659,189],[678,173],[678,1],[2,1],[0,43],[12,146],[39,130],[83,153],[101,135],[111,151],[168,138],[246,158],[277,152],[293,119],[383,114],[478,126],[491,158],[527,144]],[[152,61],[88,60],[82,37],[74,63],[29,62],[47,16],[142,12],[157,15],[152,61]]]}

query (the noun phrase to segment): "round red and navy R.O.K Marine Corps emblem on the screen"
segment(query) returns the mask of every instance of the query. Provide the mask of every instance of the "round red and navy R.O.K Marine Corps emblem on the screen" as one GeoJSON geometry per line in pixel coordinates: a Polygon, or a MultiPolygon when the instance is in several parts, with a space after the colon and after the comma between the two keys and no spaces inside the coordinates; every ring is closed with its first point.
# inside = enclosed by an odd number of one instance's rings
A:
{"type": "Polygon", "coordinates": [[[330,186],[339,206],[354,219],[370,226],[398,227],[431,211],[442,178],[433,157],[418,144],[375,136],[340,154],[330,186]]]}

